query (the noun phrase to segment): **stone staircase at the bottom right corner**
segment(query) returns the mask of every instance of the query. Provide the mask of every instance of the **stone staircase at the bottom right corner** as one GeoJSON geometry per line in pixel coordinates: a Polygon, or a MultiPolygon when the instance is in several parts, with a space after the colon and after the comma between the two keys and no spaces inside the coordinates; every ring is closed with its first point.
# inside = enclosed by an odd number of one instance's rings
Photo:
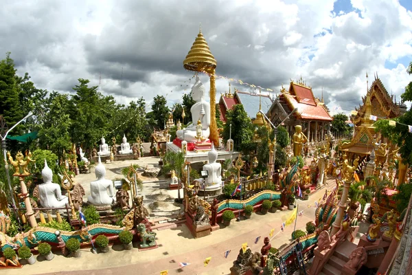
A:
{"type": "Polygon", "coordinates": [[[343,270],[343,265],[349,261],[350,253],[357,248],[357,245],[350,241],[343,241],[341,245],[334,251],[328,263],[323,266],[320,275],[339,275],[343,270]]]}

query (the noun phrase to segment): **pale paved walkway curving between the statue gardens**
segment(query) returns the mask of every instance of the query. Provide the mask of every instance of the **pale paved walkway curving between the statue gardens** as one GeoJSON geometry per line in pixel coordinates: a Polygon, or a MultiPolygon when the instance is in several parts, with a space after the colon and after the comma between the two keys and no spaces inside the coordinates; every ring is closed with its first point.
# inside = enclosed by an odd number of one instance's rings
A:
{"type": "MultiPolygon", "coordinates": [[[[328,180],[329,185],[314,192],[308,201],[298,200],[299,211],[296,229],[305,230],[308,221],[314,219],[314,201],[323,197],[325,188],[334,187],[334,180],[328,180]]],[[[220,230],[209,236],[194,239],[185,225],[170,230],[157,232],[159,248],[139,252],[137,248],[122,251],[119,245],[113,245],[106,254],[92,254],[89,249],[82,250],[80,259],[66,258],[56,255],[52,261],[42,261],[34,265],[25,265],[21,270],[10,270],[4,274],[160,274],[168,270],[168,274],[229,274],[229,268],[236,260],[242,243],[247,242],[253,252],[260,251],[263,239],[271,229],[275,235],[271,244],[280,248],[291,241],[293,224],[280,230],[282,222],[290,217],[292,211],[277,211],[262,215],[255,213],[251,219],[237,222],[233,220],[227,228],[220,225],[220,230]],[[255,244],[255,238],[261,236],[255,244]],[[223,256],[226,250],[231,250],[227,259],[223,256]],[[204,267],[203,261],[211,256],[209,265],[204,267]],[[179,262],[190,263],[183,269],[179,262]]],[[[40,261],[40,259],[39,259],[40,261]]]]}

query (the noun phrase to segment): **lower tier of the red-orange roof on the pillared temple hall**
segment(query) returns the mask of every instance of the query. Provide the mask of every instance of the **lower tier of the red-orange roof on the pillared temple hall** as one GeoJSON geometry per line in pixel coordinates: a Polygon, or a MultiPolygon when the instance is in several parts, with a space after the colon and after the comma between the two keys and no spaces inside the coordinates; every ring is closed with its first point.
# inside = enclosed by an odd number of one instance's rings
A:
{"type": "Polygon", "coordinates": [[[291,105],[292,109],[297,108],[297,113],[299,116],[306,120],[328,120],[332,121],[332,117],[329,113],[323,108],[321,104],[310,105],[306,103],[297,102],[296,96],[291,94],[281,94],[284,96],[288,103],[291,105]]]}

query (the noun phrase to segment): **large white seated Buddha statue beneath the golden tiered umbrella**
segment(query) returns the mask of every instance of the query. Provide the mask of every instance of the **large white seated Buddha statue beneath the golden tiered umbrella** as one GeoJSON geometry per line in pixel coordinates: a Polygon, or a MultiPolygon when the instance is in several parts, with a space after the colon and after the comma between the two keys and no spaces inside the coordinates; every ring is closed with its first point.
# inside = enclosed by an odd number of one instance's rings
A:
{"type": "Polygon", "coordinates": [[[188,124],[186,129],[176,131],[176,136],[180,140],[185,140],[187,142],[196,142],[196,124],[198,120],[201,120],[202,124],[202,135],[206,139],[209,137],[210,129],[210,104],[205,101],[205,86],[201,83],[199,76],[196,76],[196,83],[192,87],[192,98],[196,101],[190,108],[190,113],[192,113],[192,123],[188,124]]]}

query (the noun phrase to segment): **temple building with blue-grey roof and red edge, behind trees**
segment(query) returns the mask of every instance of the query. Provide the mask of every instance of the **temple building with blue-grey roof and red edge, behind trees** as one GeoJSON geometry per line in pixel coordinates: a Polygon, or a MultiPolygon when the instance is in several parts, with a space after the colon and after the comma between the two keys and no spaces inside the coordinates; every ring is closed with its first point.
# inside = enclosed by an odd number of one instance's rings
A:
{"type": "Polygon", "coordinates": [[[225,94],[220,94],[219,109],[220,109],[220,120],[223,123],[226,122],[227,110],[230,110],[233,105],[242,104],[244,111],[247,112],[249,118],[254,120],[256,118],[256,112],[259,110],[259,106],[264,113],[268,111],[271,107],[273,100],[271,96],[261,95],[257,93],[248,93],[245,91],[238,91],[234,89],[234,94],[231,93],[231,87],[229,84],[229,91],[225,94]]]}

